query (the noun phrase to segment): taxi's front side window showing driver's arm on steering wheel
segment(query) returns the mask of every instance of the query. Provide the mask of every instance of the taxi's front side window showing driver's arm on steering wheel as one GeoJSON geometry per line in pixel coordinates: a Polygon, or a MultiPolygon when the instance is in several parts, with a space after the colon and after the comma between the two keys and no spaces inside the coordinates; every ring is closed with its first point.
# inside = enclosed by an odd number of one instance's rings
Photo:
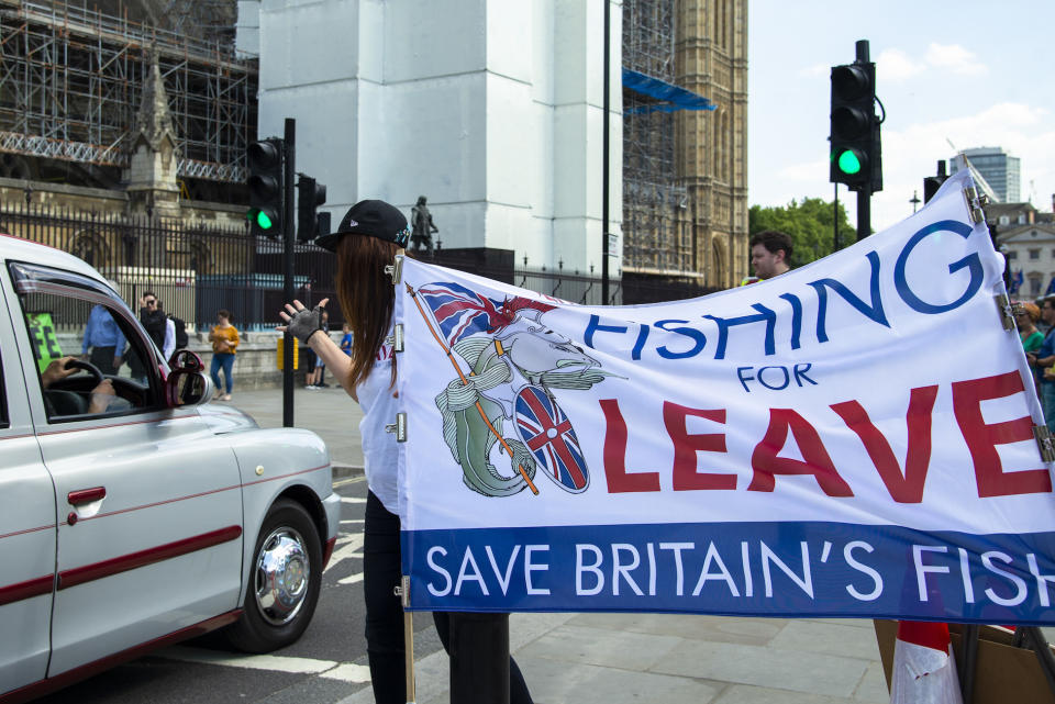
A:
{"type": "Polygon", "coordinates": [[[115,308],[70,292],[30,290],[19,298],[48,422],[160,405],[152,356],[115,308]]]}

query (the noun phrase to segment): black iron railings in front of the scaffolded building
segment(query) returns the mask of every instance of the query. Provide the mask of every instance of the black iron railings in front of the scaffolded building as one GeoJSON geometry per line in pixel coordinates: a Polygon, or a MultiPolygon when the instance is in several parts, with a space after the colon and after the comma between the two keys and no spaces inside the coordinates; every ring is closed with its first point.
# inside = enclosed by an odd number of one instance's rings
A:
{"type": "MultiPolygon", "coordinates": [[[[147,291],[188,331],[208,329],[216,311],[231,312],[242,331],[277,324],[282,300],[282,247],[253,239],[247,227],[222,227],[188,219],[77,212],[36,204],[0,206],[0,232],[80,257],[114,286],[133,310],[147,291]]],[[[429,261],[504,281],[573,303],[601,304],[601,281],[591,273],[512,266],[509,256],[481,264],[456,252],[438,250],[429,261]]],[[[336,302],[334,256],[314,245],[295,253],[296,297],[307,304],[336,302]]],[[[613,281],[610,304],[651,303],[695,298],[712,291],[696,280],[624,276],[613,281]]],[[[334,329],[343,324],[340,305],[330,306],[334,329]]]]}

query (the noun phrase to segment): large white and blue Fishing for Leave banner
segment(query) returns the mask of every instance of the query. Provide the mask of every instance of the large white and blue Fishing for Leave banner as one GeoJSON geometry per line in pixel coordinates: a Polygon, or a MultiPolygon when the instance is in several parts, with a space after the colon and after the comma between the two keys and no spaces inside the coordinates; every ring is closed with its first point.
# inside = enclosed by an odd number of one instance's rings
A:
{"type": "Polygon", "coordinates": [[[969,185],[689,301],[406,259],[411,608],[1055,624],[1043,420],[969,185]]]}

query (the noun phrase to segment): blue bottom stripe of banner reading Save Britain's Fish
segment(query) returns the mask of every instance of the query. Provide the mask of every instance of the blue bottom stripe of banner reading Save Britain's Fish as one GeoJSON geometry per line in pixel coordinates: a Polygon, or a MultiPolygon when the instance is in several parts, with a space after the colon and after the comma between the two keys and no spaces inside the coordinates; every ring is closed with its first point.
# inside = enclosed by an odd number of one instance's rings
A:
{"type": "Polygon", "coordinates": [[[696,523],[402,533],[412,611],[1055,625],[1055,533],[696,523]]]}

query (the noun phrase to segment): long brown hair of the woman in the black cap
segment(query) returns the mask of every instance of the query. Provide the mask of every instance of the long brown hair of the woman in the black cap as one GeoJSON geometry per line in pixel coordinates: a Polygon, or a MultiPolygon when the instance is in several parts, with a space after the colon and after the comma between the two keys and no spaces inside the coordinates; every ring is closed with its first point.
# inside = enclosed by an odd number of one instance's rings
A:
{"type": "MultiPolygon", "coordinates": [[[[337,243],[337,300],[352,328],[351,387],[358,385],[377,360],[392,322],[396,291],[385,267],[397,246],[369,235],[348,234],[337,243]]],[[[396,383],[396,358],[392,358],[396,383]]]]}

